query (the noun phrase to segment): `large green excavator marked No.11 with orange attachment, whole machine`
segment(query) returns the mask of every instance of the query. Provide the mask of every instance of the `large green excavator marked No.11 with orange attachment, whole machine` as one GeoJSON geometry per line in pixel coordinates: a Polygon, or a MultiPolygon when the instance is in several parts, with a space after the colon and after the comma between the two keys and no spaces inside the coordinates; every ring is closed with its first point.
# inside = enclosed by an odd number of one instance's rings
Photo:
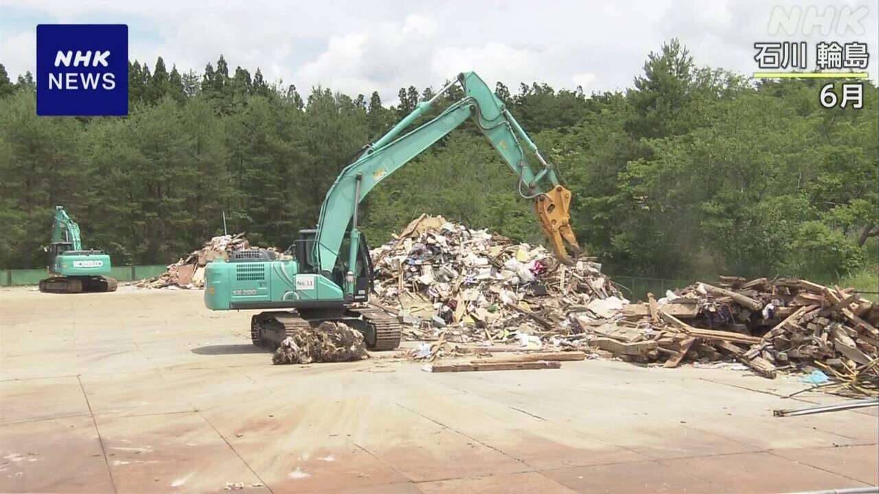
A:
{"type": "Polygon", "coordinates": [[[205,269],[207,308],[268,309],[251,317],[254,345],[280,345],[295,331],[336,321],[363,332],[372,350],[395,349],[401,330],[396,317],[367,304],[373,267],[367,240],[358,229],[360,202],[381,180],[467,120],[476,124],[519,178],[519,195],[534,200],[534,212],[556,258],[572,264],[571,256],[577,258],[580,249],[569,223],[570,191],[558,183],[552,166],[504,103],[476,73],[466,72],[430,100],[419,102],[381,139],[364,147],[327,192],[317,228],[299,232],[291,247],[292,259],[275,259],[268,251],[239,251],[228,261],[209,263],[205,269]],[[461,84],[463,98],[403,134],[454,84],[461,84]],[[535,173],[528,164],[522,143],[540,161],[540,171],[535,173]]]}

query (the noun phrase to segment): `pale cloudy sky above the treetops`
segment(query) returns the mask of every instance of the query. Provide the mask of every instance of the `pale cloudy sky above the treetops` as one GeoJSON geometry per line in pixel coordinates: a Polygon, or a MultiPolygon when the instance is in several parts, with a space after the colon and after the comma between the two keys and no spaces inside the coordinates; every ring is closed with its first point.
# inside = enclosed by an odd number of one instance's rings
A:
{"type": "Polygon", "coordinates": [[[316,85],[352,96],[379,91],[386,104],[401,87],[437,89],[468,70],[513,92],[522,82],[581,86],[587,94],[625,90],[647,55],[672,38],[690,49],[697,65],[747,75],[758,70],[754,42],[807,41],[809,69],[817,41],[868,42],[868,72],[876,81],[877,17],[873,0],[0,0],[0,63],[13,80],[33,71],[40,23],[122,23],[129,59],[150,68],[161,55],[169,68],[202,72],[223,54],[230,73],[239,65],[251,74],[260,68],[269,81],[295,84],[303,94],[316,85]],[[810,7],[839,18],[848,6],[860,27],[837,33],[832,25],[826,35],[801,27],[788,34],[770,28],[776,6],[801,19],[810,7]]]}

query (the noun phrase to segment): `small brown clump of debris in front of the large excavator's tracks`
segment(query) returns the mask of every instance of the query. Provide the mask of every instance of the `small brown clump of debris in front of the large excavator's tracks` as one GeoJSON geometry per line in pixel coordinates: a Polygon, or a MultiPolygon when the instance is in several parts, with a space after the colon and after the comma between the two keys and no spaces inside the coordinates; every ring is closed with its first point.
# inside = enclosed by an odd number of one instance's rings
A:
{"type": "Polygon", "coordinates": [[[311,362],[349,362],[367,358],[363,334],[345,323],[324,321],[316,328],[296,331],[281,342],[272,362],[309,364],[311,362]]]}

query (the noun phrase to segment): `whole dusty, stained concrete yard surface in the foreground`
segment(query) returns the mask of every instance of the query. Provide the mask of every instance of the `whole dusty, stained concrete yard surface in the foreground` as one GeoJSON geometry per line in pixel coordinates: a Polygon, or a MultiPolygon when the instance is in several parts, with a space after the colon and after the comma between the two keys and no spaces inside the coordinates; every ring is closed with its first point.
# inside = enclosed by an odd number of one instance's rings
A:
{"type": "Polygon", "coordinates": [[[201,292],[0,289],[0,491],[788,492],[874,484],[875,409],[728,369],[272,366],[201,292]]]}

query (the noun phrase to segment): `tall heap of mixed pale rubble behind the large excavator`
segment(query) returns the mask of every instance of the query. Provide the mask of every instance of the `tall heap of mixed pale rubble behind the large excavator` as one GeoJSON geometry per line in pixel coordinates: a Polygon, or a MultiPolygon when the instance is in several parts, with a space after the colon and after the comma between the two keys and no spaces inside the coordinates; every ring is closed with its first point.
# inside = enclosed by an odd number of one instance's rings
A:
{"type": "Polygon", "coordinates": [[[440,216],[423,214],[370,254],[380,305],[398,314],[404,338],[434,341],[433,358],[447,343],[573,347],[571,311],[627,302],[590,258],[560,265],[541,246],[440,216]]]}

